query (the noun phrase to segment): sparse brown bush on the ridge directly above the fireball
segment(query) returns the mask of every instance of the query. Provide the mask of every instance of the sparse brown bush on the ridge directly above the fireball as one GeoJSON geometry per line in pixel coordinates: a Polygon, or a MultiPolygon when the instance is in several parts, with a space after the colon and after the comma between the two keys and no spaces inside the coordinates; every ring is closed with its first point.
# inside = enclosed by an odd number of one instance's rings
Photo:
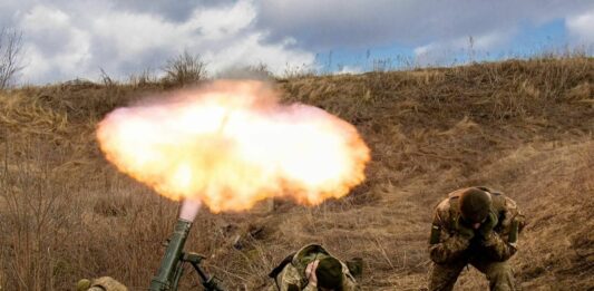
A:
{"type": "Polygon", "coordinates": [[[187,51],[169,59],[163,70],[166,74],[164,80],[173,85],[193,85],[206,78],[206,62],[187,51]]]}

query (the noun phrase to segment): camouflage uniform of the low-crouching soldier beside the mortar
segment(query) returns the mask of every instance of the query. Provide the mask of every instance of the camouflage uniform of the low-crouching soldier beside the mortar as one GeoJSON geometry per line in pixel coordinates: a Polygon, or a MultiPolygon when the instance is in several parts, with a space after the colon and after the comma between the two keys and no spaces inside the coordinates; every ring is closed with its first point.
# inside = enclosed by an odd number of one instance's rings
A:
{"type": "MultiPolygon", "coordinates": [[[[274,278],[274,284],[269,289],[270,291],[317,291],[318,288],[311,284],[305,275],[308,264],[330,256],[330,254],[319,244],[310,244],[299,250],[282,271],[274,278]]],[[[349,268],[342,263],[342,290],[341,291],[357,291],[360,290],[357,281],[351,275],[349,268]]]]}

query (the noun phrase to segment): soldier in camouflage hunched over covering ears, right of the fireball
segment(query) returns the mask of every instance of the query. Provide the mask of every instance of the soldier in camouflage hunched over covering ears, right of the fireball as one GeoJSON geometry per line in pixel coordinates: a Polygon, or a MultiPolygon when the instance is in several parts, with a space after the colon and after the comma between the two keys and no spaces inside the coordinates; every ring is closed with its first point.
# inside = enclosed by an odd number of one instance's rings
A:
{"type": "Polygon", "coordinates": [[[434,213],[429,290],[452,290],[467,264],[486,274],[490,290],[515,290],[507,260],[525,225],[516,203],[486,187],[455,191],[434,213]]]}

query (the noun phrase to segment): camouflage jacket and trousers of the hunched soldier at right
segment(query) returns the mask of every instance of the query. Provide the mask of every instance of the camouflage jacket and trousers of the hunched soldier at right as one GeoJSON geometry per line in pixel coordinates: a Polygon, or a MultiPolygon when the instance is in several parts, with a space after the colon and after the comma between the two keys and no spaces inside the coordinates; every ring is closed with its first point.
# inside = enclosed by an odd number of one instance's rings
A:
{"type": "MultiPolygon", "coordinates": [[[[429,255],[434,261],[429,279],[429,290],[452,290],[462,269],[470,263],[487,275],[490,290],[515,290],[514,275],[507,260],[517,251],[516,243],[509,243],[512,224],[517,232],[525,225],[524,215],[516,203],[504,194],[486,187],[478,187],[490,194],[491,208],[498,216],[494,230],[481,240],[467,240],[457,231],[460,216],[459,196],[468,188],[448,194],[435,210],[432,232],[439,239],[429,245],[429,255]]],[[[431,239],[434,240],[434,239],[431,239]]]]}

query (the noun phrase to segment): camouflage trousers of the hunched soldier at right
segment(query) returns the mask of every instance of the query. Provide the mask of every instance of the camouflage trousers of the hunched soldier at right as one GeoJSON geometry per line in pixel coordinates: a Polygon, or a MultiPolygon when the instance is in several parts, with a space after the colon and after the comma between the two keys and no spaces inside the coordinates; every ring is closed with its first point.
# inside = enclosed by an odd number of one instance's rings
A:
{"type": "Polygon", "coordinates": [[[507,262],[495,262],[488,260],[460,260],[449,264],[434,263],[429,278],[429,291],[449,291],[454,289],[458,275],[467,264],[471,264],[484,273],[489,280],[491,291],[516,290],[514,273],[507,262]]]}

